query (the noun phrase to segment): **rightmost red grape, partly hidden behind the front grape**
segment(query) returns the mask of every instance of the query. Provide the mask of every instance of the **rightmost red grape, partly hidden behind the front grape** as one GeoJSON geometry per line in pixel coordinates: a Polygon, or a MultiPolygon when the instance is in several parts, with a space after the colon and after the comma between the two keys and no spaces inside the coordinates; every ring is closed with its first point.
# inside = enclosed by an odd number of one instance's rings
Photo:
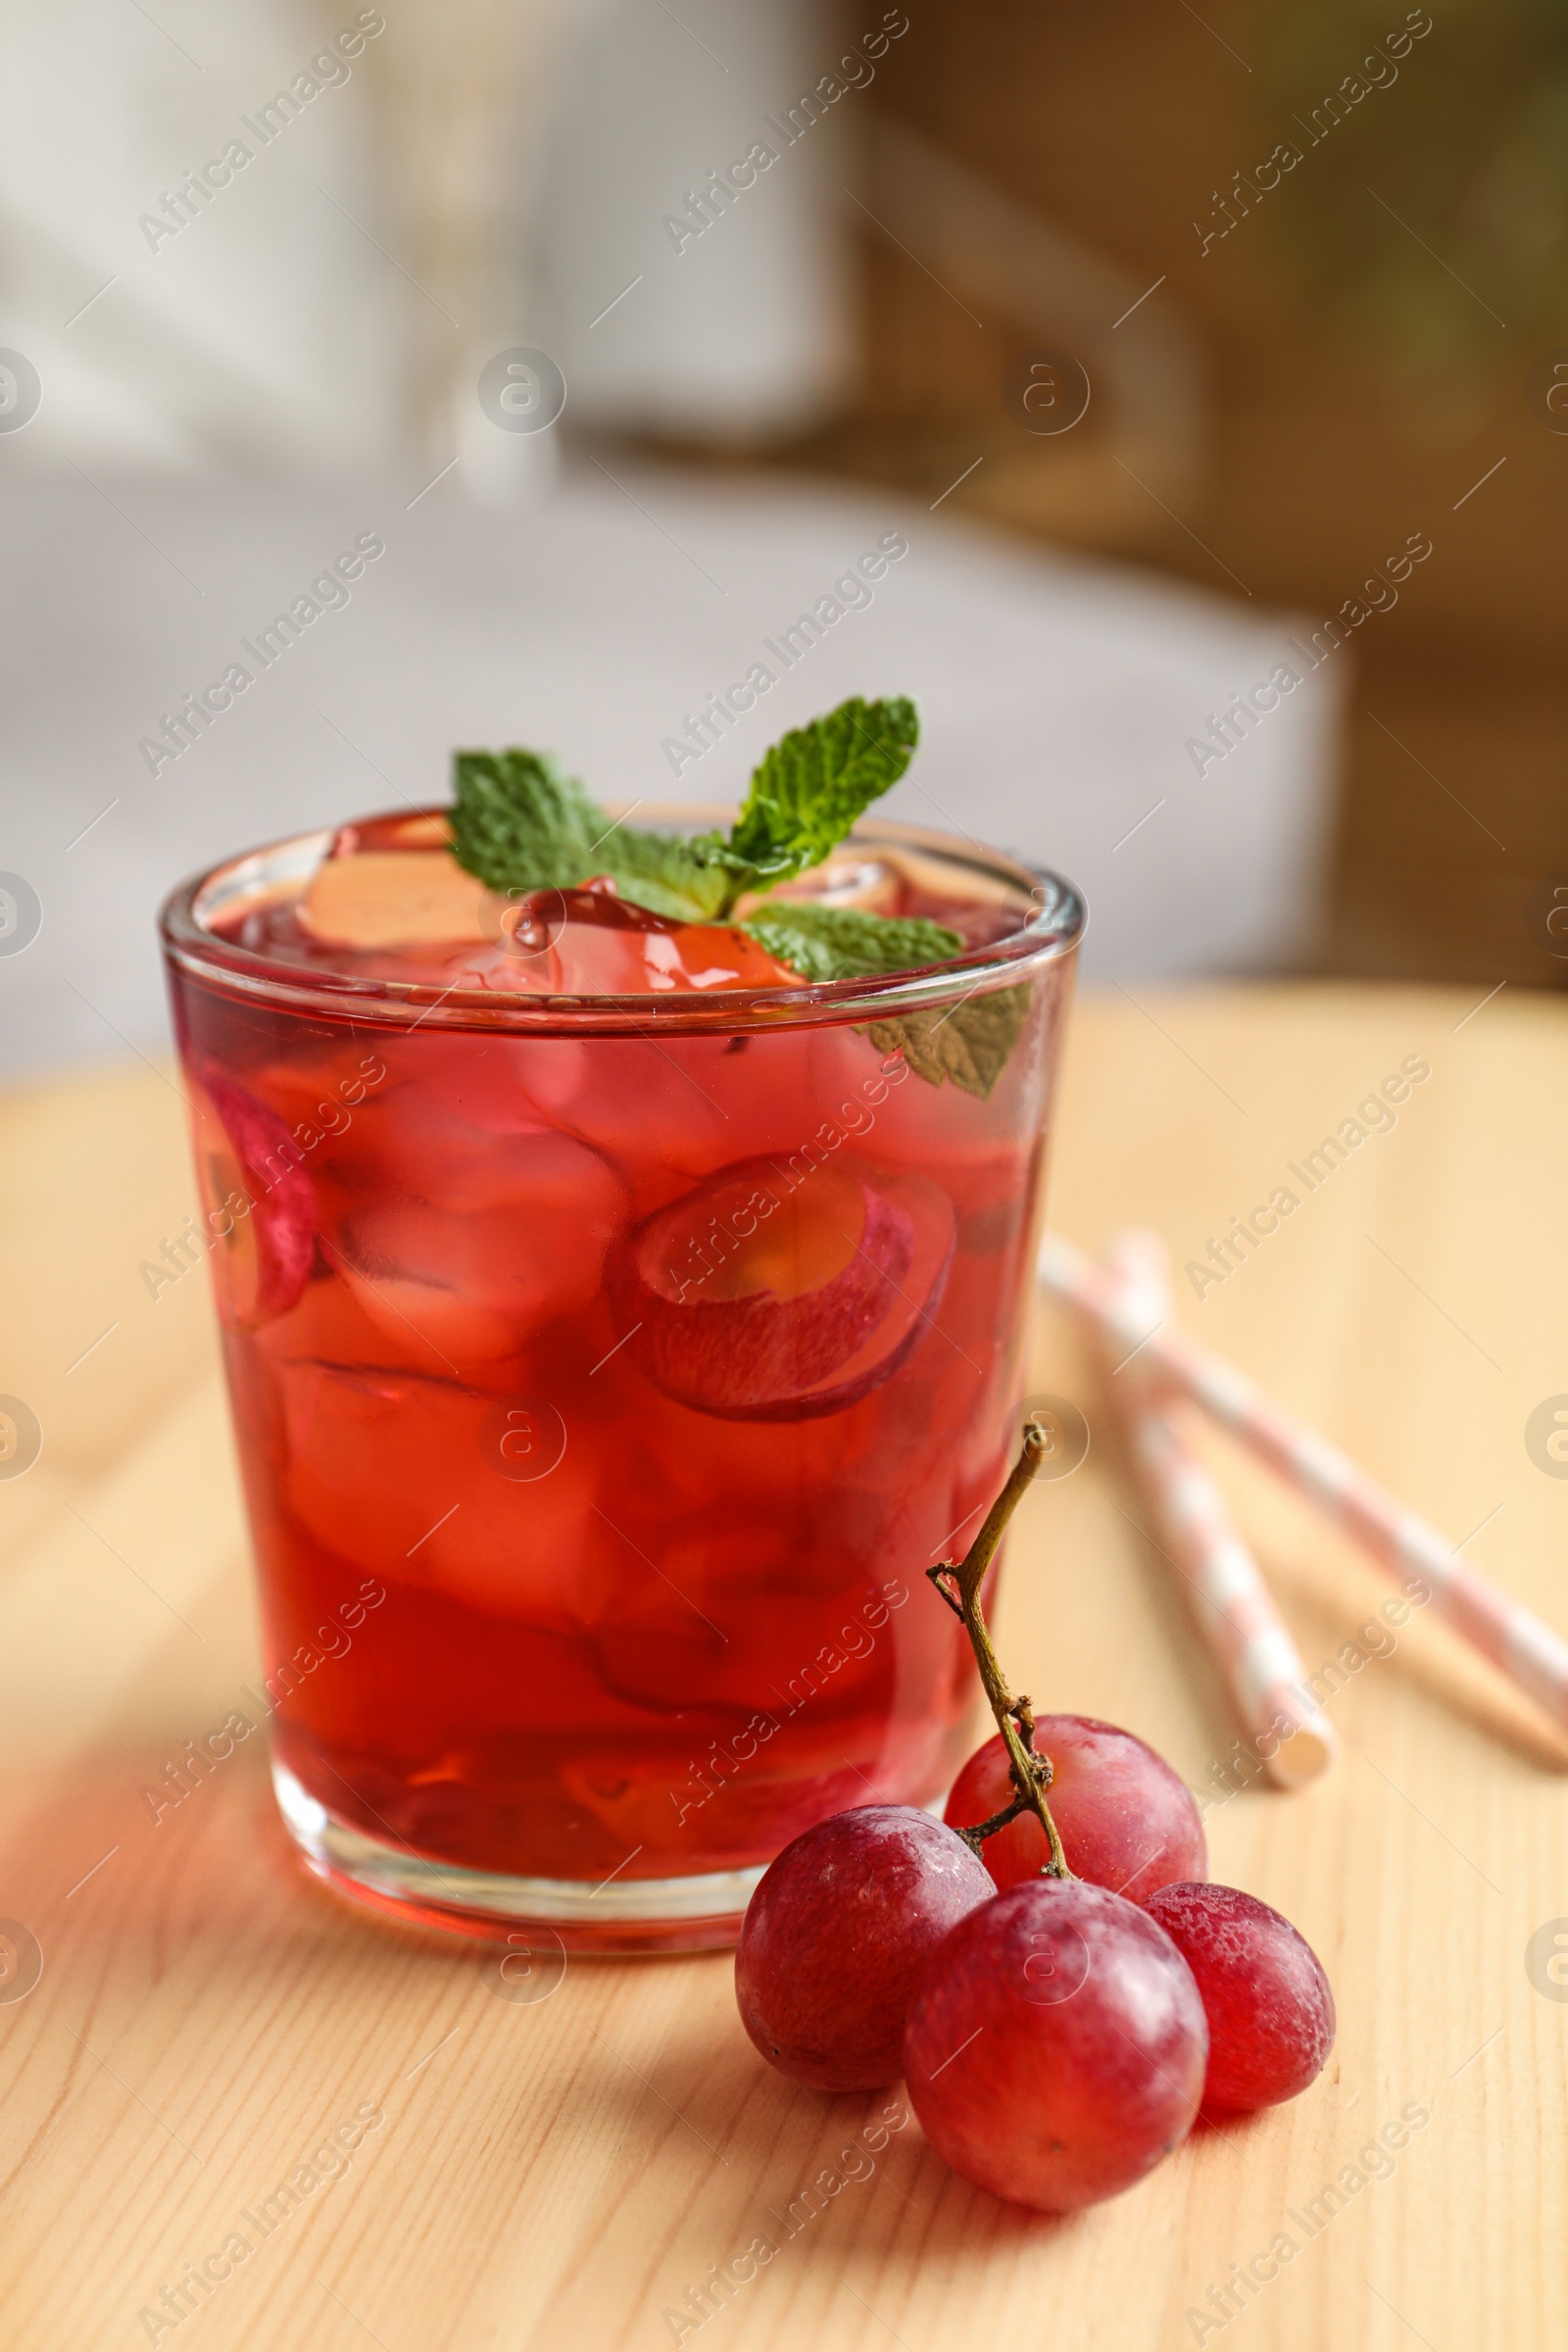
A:
{"type": "Polygon", "coordinates": [[[1208,2016],[1204,2112],[1295,2098],[1333,2049],[1333,1992],[1312,1945],[1239,1886],[1161,1886],[1147,1900],[1208,2016]]]}

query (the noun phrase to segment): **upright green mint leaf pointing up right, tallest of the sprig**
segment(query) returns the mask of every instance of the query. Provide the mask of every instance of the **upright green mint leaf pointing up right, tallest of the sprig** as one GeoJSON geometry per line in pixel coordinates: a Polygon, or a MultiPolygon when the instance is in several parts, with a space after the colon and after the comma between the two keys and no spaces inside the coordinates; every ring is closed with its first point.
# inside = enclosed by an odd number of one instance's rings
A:
{"type": "Polygon", "coordinates": [[[698,856],[762,884],[820,866],[872,800],[898,783],[917,743],[919,715],[907,696],[851,696],[762,755],[729,840],[708,835],[698,856]]]}

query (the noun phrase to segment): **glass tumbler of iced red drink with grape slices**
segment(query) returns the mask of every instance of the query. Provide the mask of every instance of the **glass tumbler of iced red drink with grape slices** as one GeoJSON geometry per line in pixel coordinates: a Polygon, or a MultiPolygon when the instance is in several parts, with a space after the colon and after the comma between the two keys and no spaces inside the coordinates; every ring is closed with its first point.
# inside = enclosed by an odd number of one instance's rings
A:
{"type": "Polygon", "coordinates": [[[393,858],[449,887],[433,842],[315,835],[165,910],[284,1816],[447,1924],[733,1940],[790,1837],[966,1750],[924,1569],[1006,1475],[1081,910],[867,823],[804,889],[940,917],[954,967],[804,985],[465,875],[477,915],[355,943],[393,858]]]}

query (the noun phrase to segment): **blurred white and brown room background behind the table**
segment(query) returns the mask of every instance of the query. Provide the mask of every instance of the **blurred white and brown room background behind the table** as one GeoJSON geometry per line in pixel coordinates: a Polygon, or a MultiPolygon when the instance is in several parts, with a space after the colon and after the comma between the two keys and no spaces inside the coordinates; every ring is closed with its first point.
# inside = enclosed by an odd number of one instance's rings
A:
{"type": "Polygon", "coordinates": [[[851,691],[1091,981],[1556,988],[1566,294],[1561,0],[12,0],[0,1056],[454,743],[731,800],[851,691]]]}

